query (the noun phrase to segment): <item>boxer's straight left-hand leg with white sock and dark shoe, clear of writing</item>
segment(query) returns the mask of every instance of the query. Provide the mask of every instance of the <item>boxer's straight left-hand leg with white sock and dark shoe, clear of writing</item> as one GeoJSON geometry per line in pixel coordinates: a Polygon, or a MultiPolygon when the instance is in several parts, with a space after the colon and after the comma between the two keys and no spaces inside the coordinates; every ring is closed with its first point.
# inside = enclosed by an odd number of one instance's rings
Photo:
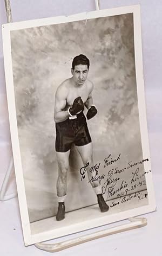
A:
{"type": "Polygon", "coordinates": [[[57,178],[57,196],[58,196],[58,211],[56,220],[63,220],[65,217],[65,196],[67,190],[67,176],[69,169],[69,154],[68,152],[56,152],[58,163],[58,178],[57,178]]]}

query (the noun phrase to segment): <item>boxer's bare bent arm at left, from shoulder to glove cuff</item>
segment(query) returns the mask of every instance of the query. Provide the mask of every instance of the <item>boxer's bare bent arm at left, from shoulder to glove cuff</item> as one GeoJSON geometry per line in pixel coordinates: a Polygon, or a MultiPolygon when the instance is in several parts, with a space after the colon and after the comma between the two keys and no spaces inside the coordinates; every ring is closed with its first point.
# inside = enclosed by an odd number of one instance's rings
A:
{"type": "Polygon", "coordinates": [[[55,97],[55,112],[54,120],[56,123],[60,123],[69,118],[68,110],[64,111],[66,106],[66,91],[63,88],[58,88],[55,97]]]}

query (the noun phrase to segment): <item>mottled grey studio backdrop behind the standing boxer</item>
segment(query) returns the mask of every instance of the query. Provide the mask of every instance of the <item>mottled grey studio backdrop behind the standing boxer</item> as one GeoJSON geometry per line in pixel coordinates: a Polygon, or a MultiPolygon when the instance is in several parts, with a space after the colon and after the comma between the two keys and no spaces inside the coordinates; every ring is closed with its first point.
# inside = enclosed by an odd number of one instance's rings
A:
{"type": "MultiPolygon", "coordinates": [[[[31,222],[56,215],[55,93],[70,78],[76,55],[89,57],[89,79],[95,85],[93,103],[98,114],[88,121],[95,163],[110,153],[113,158],[121,153],[120,168],[143,159],[133,40],[133,14],[11,31],[18,135],[31,222]]],[[[80,182],[82,166],[73,146],[66,210],[96,203],[91,185],[86,179],[80,182]]],[[[107,170],[100,171],[106,174],[107,170]]],[[[129,181],[131,171],[122,175],[129,181]]]]}

